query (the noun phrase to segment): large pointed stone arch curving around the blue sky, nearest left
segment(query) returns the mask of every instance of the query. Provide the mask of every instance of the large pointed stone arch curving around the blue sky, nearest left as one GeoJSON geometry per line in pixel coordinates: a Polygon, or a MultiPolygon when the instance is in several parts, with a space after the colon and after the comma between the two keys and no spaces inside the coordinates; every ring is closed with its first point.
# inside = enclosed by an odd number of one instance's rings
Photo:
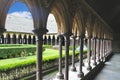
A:
{"type": "Polygon", "coordinates": [[[6,22],[6,17],[7,17],[7,13],[9,8],[15,3],[15,2],[23,2],[24,4],[26,4],[26,6],[28,7],[28,9],[30,10],[32,17],[33,17],[33,22],[35,23],[35,10],[33,11],[33,7],[29,6],[31,0],[9,0],[9,1],[5,1],[5,0],[1,0],[1,13],[0,13],[0,23],[1,23],[1,28],[5,28],[5,22],[6,22]],[[2,3],[3,2],[3,3],[2,3]]]}

